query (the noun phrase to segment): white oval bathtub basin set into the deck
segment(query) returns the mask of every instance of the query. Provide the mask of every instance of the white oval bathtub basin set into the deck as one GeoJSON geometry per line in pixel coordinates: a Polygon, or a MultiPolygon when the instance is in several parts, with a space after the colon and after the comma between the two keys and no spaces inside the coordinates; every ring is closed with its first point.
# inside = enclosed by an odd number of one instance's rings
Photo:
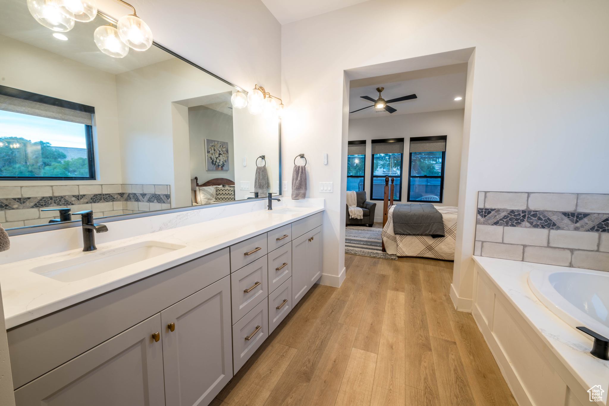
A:
{"type": "Polygon", "coordinates": [[[609,337],[609,273],[536,269],[528,282],[541,303],[569,326],[585,326],[609,337]]]}

